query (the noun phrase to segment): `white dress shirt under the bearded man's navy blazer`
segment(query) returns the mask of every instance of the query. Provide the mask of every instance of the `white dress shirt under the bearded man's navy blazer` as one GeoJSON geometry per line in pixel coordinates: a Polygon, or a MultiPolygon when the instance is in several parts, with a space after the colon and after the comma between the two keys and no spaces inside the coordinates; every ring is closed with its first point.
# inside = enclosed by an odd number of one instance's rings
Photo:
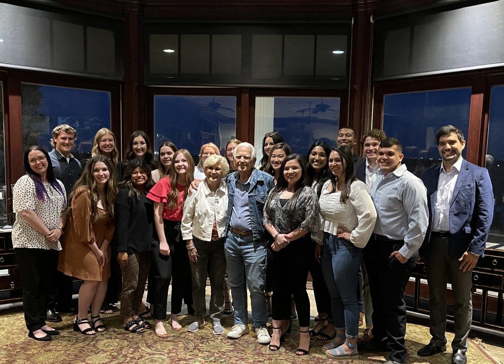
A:
{"type": "Polygon", "coordinates": [[[434,216],[432,217],[431,231],[450,231],[450,204],[452,202],[453,190],[459,177],[463,158],[460,156],[457,162],[450,169],[450,173],[445,170],[441,163],[439,179],[437,180],[436,200],[434,204],[434,216]]]}

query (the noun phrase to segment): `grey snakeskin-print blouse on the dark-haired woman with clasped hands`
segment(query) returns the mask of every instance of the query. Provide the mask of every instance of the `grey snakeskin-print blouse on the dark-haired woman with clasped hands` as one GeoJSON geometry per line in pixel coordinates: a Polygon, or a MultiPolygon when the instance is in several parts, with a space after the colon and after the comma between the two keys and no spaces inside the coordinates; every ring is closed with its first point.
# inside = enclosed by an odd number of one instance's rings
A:
{"type": "Polygon", "coordinates": [[[289,200],[283,207],[280,195],[277,193],[264,206],[265,225],[273,225],[280,234],[288,234],[297,228],[311,233],[319,230],[319,201],[311,187],[303,187],[297,199],[289,200]]]}

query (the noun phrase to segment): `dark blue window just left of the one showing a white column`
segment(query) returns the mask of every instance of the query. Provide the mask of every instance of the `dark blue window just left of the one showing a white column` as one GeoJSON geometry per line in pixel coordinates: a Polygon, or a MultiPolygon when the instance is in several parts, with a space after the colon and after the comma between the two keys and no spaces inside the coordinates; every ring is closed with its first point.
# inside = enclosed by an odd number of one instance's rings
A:
{"type": "Polygon", "coordinates": [[[154,149],[165,141],[187,149],[195,162],[203,144],[212,142],[221,155],[236,137],[235,96],[154,95],[154,149]]]}

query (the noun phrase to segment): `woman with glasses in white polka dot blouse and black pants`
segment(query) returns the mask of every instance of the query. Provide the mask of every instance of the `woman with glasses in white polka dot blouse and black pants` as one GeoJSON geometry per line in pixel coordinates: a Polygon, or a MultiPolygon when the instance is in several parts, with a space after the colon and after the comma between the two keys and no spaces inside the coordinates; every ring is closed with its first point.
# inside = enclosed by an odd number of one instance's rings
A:
{"type": "Polygon", "coordinates": [[[12,245],[21,270],[23,309],[28,336],[51,340],[58,330],[45,323],[49,280],[56,270],[59,238],[65,226],[67,194],[54,178],[47,151],[35,145],[23,158],[26,174],[14,185],[16,222],[12,245]]]}

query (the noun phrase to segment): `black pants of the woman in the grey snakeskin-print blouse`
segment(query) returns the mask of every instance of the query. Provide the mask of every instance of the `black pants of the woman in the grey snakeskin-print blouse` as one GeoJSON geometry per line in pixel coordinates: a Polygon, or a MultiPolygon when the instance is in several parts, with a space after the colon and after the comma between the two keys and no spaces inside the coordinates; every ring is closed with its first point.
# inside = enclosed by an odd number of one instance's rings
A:
{"type": "Polygon", "coordinates": [[[296,303],[299,326],[309,326],[310,301],[306,293],[306,278],[310,255],[313,254],[309,234],[291,241],[279,252],[273,252],[271,308],[274,320],[290,320],[292,294],[296,303]]]}

